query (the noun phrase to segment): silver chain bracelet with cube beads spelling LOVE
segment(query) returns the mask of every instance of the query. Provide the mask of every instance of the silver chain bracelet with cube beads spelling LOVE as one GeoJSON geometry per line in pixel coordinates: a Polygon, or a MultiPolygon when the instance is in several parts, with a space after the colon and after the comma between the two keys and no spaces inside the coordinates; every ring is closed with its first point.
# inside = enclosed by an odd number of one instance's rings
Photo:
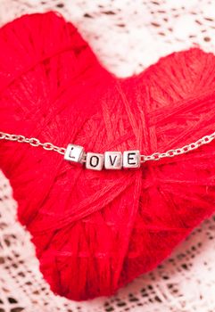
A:
{"type": "Polygon", "coordinates": [[[41,146],[46,151],[59,152],[64,155],[64,160],[75,163],[85,163],[87,169],[102,170],[105,169],[121,169],[121,168],[139,168],[141,163],[148,160],[160,160],[165,157],[174,157],[186,152],[190,152],[203,144],[209,144],[215,138],[215,132],[211,135],[205,135],[194,143],[187,144],[175,150],[167,152],[153,152],[151,155],[141,155],[140,151],[125,152],[85,152],[84,148],[76,144],[68,144],[67,148],[55,146],[52,143],[41,143],[35,137],[26,137],[24,135],[12,135],[0,132],[0,140],[16,141],[19,143],[28,143],[31,146],[41,146]]]}

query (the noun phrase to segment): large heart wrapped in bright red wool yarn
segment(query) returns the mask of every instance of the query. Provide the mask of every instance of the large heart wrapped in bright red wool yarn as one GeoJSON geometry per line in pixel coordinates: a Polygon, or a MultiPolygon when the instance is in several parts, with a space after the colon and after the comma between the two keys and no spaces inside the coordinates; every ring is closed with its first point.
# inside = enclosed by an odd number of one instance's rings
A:
{"type": "MultiPolygon", "coordinates": [[[[143,38],[144,40],[144,38],[143,38]]],[[[0,30],[0,131],[89,152],[165,152],[215,130],[215,57],[198,48],[132,78],[103,68],[54,12],[0,30]]],[[[0,168],[45,280],[72,300],[111,295],[215,211],[215,143],[136,170],[89,170],[0,142],[0,168]]]]}

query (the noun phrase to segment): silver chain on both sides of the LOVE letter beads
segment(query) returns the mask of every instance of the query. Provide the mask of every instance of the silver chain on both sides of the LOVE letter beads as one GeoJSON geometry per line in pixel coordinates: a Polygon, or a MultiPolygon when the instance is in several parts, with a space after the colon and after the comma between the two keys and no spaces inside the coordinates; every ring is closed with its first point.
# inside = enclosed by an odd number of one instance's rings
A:
{"type": "MultiPolygon", "coordinates": [[[[141,162],[149,161],[149,160],[161,160],[161,158],[166,157],[174,157],[180,154],[184,154],[186,152],[194,151],[198,147],[203,144],[209,144],[215,138],[215,132],[211,135],[205,135],[202,138],[198,139],[197,141],[187,144],[183,147],[177,148],[175,150],[169,150],[167,152],[153,152],[151,155],[141,155],[141,162]]],[[[55,146],[52,143],[45,142],[41,143],[36,137],[26,137],[24,135],[12,135],[4,132],[0,132],[0,140],[7,140],[7,141],[16,141],[19,143],[27,143],[31,146],[41,146],[46,151],[54,151],[59,152],[60,154],[64,155],[66,148],[55,146]]],[[[85,160],[84,160],[85,161],[85,160]]]]}

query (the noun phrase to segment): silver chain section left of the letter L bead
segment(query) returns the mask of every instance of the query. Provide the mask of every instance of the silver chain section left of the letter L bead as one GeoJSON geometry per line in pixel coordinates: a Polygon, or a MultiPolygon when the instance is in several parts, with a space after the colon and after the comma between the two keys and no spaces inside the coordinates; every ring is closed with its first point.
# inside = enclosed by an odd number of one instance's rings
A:
{"type": "Polygon", "coordinates": [[[11,135],[9,133],[0,132],[0,140],[17,141],[20,143],[28,143],[31,146],[41,146],[46,151],[59,152],[59,154],[62,155],[64,155],[66,151],[64,147],[55,146],[54,144],[49,142],[41,143],[36,137],[29,138],[24,135],[11,135]]]}

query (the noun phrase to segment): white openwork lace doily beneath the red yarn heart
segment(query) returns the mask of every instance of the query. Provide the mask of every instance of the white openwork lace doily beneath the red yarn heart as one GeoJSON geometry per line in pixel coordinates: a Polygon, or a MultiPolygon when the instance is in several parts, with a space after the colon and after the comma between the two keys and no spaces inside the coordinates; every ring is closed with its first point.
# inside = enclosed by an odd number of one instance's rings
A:
{"type": "MultiPolygon", "coordinates": [[[[0,0],[0,24],[49,10],[72,21],[121,77],[191,45],[215,53],[215,0],[0,0]]],[[[0,171],[0,312],[215,311],[215,217],[196,228],[170,259],[112,298],[78,303],[50,291],[16,209],[0,171]]]]}

